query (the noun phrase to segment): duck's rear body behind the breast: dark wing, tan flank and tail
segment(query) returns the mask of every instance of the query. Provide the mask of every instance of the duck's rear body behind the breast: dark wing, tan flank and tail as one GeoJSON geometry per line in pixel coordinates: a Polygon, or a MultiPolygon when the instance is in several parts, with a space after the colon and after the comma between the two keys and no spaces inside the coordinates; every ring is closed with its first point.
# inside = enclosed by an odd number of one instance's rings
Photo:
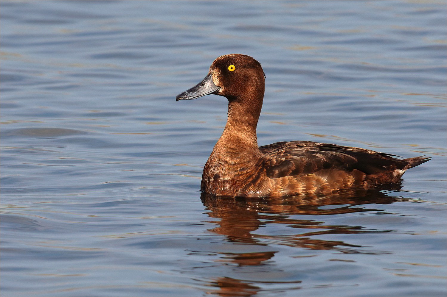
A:
{"type": "Polygon", "coordinates": [[[398,183],[405,170],[429,160],[396,159],[362,148],[308,141],[276,142],[259,150],[263,155],[259,169],[265,170],[266,182],[283,187],[286,194],[293,194],[298,184],[303,192],[329,193],[398,183]]]}

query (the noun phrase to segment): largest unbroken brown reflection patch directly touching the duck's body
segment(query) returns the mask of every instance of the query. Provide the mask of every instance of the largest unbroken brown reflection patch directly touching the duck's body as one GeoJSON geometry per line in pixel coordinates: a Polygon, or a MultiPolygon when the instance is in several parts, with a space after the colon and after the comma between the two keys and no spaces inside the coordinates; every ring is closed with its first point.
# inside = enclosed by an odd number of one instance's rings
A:
{"type": "Polygon", "coordinates": [[[391,230],[368,230],[362,226],[327,225],[315,219],[300,219],[295,215],[335,215],[356,212],[374,212],[383,209],[371,209],[367,204],[389,204],[405,198],[390,197],[380,190],[358,190],[331,196],[298,196],[278,198],[237,198],[215,197],[202,193],[203,204],[210,212],[216,226],[209,231],[225,235],[231,242],[263,244],[269,242],[288,246],[317,250],[334,249],[346,253],[363,253],[357,245],[342,241],[311,239],[320,234],[348,234],[367,232],[390,232],[391,230]],[[291,218],[293,216],[293,218],[291,218]],[[295,229],[293,235],[256,234],[261,226],[267,224],[287,224],[295,229]],[[298,230],[299,229],[299,230],[298,230]]]}

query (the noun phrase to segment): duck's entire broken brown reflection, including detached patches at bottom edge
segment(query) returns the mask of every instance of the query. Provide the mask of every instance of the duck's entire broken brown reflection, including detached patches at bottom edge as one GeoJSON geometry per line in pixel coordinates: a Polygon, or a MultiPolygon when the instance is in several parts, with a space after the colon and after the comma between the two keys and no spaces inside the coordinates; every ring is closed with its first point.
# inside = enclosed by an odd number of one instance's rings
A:
{"type": "MultiPolygon", "coordinates": [[[[405,201],[406,198],[391,197],[380,190],[356,190],[344,194],[330,196],[295,196],[278,198],[238,198],[215,197],[202,193],[201,199],[211,218],[216,224],[208,230],[224,235],[232,243],[248,243],[263,246],[286,245],[313,250],[334,250],[342,253],[381,254],[380,251],[367,251],[363,246],[345,243],[343,241],[312,238],[320,234],[356,234],[385,233],[392,230],[371,230],[363,226],[330,225],[313,219],[299,219],[296,215],[322,216],[339,215],[357,212],[377,212],[383,209],[366,208],[366,204],[389,204],[405,201]],[[292,217],[293,216],[293,217],[292,217]],[[255,231],[267,224],[286,224],[295,234],[265,235],[255,231]]],[[[306,217],[307,218],[307,217],[306,217]]],[[[321,217],[319,217],[321,218],[321,217]]],[[[290,231],[290,230],[288,230],[290,231]]],[[[289,232],[288,232],[289,233],[289,232]]],[[[253,253],[220,253],[224,255],[219,261],[238,266],[263,265],[271,261],[275,251],[253,253]]],[[[300,283],[300,280],[292,281],[300,283]]],[[[259,283],[259,281],[257,281],[259,283]]],[[[272,283],[275,283],[272,281],[272,283]]],[[[219,296],[253,296],[261,290],[249,280],[238,280],[228,277],[218,277],[209,282],[210,286],[219,290],[208,292],[219,296]]],[[[295,288],[297,289],[297,288],[295,288]]]]}

